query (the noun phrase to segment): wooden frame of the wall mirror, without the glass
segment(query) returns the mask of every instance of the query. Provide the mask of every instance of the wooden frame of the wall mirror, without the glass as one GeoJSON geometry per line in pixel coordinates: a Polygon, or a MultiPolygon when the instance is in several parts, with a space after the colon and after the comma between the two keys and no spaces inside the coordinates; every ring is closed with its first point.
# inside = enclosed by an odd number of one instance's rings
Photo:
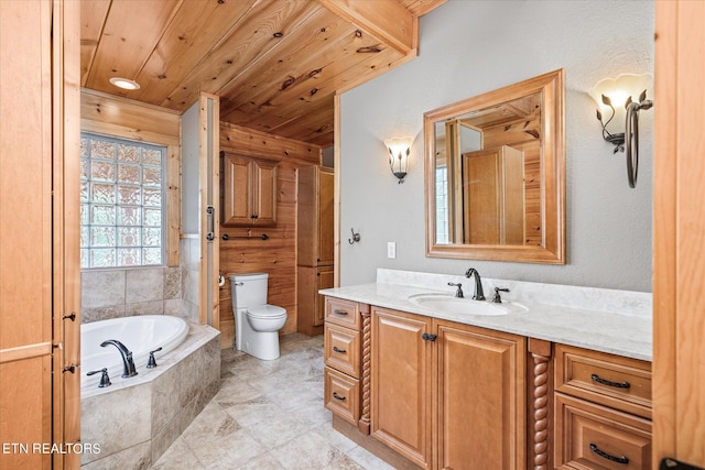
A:
{"type": "Polygon", "coordinates": [[[424,113],[426,256],[565,264],[565,76],[557,69],[424,113]],[[539,245],[436,243],[435,123],[541,94],[541,223],[539,245]]]}

